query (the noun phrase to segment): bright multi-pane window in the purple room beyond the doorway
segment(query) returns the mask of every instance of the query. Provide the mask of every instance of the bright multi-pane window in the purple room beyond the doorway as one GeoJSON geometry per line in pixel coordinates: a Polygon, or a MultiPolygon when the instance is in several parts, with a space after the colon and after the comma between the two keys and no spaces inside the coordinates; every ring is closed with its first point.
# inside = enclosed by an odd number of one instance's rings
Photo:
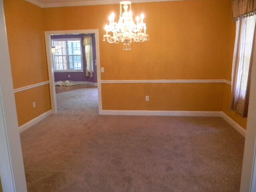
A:
{"type": "Polygon", "coordinates": [[[58,46],[53,54],[54,72],[83,72],[82,42],[79,38],[52,40],[58,46]]]}

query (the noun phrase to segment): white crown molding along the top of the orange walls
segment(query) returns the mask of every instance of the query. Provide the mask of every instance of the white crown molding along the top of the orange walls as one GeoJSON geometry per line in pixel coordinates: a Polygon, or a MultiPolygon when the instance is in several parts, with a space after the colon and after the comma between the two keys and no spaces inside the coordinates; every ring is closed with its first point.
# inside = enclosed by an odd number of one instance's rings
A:
{"type": "MultiPolygon", "coordinates": [[[[65,2],[65,3],[41,3],[38,0],[25,0],[41,8],[50,7],[72,7],[72,6],[88,6],[88,5],[106,5],[106,4],[119,4],[120,0],[85,0],[78,2],[65,2]]],[[[161,1],[183,1],[183,0],[133,0],[132,3],[144,2],[161,2],[161,1]]]]}

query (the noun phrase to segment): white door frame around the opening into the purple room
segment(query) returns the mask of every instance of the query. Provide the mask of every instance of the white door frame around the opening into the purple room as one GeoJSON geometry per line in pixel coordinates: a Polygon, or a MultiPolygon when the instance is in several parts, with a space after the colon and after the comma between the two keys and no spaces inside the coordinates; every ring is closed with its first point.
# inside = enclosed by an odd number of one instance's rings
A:
{"type": "MultiPolygon", "coordinates": [[[[99,114],[102,114],[102,100],[101,100],[101,81],[100,81],[100,43],[99,43],[99,30],[87,29],[87,30],[61,30],[61,31],[45,31],[45,44],[46,44],[46,56],[48,64],[48,76],[51,95],[51,104],[53,113],[57,113],[56,91],[54,82],[54,64],[52,58],[52,42],[51,35],[67,35],[67,34],[95,34],[96,44],[96,61],[97,61],[97,84],[98,84],[98,107],[99,114]]],[[[84,69],[85,70],[85,69],[84,69]]]]}

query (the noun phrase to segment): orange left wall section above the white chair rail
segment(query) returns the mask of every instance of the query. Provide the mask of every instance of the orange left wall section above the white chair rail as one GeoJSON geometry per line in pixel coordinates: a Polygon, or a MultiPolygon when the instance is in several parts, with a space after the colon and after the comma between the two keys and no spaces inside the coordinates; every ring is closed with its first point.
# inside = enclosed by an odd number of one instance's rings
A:
{"type": "Polygon", "coordinates": [[[43,9],[24,0],[4,0],[14,88],[48,80],[43,9]]]}

